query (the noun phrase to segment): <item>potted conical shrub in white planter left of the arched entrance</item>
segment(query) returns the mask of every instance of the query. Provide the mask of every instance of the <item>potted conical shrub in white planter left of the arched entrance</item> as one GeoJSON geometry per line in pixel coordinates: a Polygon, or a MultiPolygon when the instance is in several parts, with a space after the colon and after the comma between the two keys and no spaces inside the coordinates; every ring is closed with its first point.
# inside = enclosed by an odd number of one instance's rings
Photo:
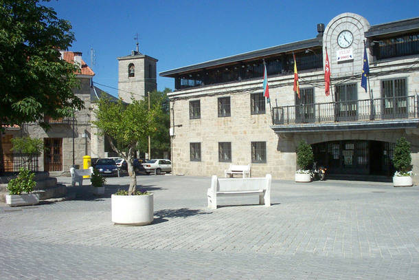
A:
{"type": "Polygon", "coordinates": [[[295,171],[295,182],[311,182],[310,166],[313,164],[314,155],[311,146],[301,140],[297,146],[297,165],[300,169],[295,171]]]}

